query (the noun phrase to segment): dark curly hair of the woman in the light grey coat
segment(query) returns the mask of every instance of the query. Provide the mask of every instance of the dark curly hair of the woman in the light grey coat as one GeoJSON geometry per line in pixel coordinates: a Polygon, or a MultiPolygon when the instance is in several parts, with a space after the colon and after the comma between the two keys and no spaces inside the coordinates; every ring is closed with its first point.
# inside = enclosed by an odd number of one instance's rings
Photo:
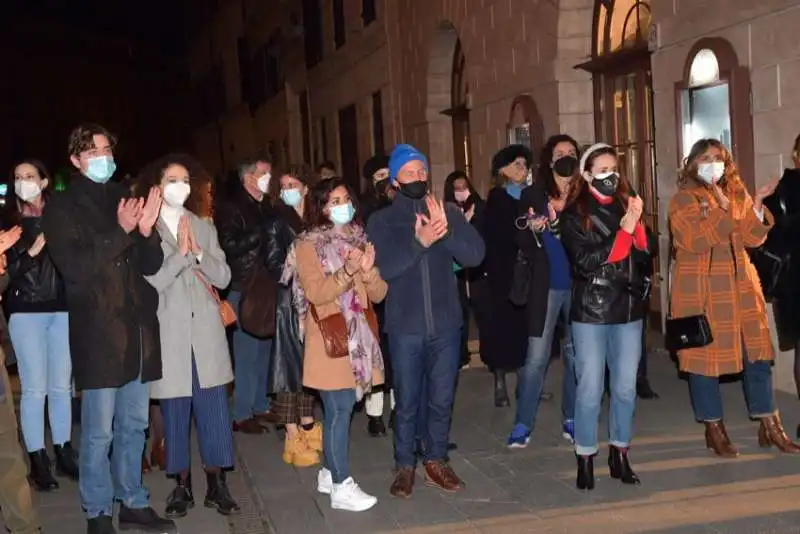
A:
{"type": "Polygon", "coordinates": [[[208,217],[213,205],[208,189],[208,184],[212,182],[211,175],[199,161],[188,154],[168,154],[146,165],[136,177],[133,195],[147,198],[150,188],[161,185],[164,173],[172,165],[180,165],[189,173],[191,193],[183,206],[198,217],[208,217]]]}

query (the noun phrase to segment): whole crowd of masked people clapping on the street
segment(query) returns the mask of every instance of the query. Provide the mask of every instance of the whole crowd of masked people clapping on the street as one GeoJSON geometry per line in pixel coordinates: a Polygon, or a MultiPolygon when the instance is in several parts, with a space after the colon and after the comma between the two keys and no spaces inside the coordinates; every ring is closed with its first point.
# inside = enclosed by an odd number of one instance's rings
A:
{"type": "MultiPolygon", "coordinates": [[[[29,468],[4,375],[0,506],[12,532],[40,532],[26,475],[35,490],[56,490],[54,468],[78,482],[89,534],[116,532],[115,503],[122,530],[176,532],[175,519],[195,505],[192,421],[206,507],[239,512],[226,479],[234,433],[279,426],[284,462],[321,464],[317,490],[332,508],[367,510],[378,499],[352,477],[351,416],[363,402],[369,434],[385,436],[387,399],[389,493],[411,497],[418,463],[427,484],[457,492],[464,483],[449,462],[449,434],[472,317],[498,409],[512,404],[506,376],[517,373],[509,448],[529,445],[540,401],[552,397],[545,375],[560,357],[559,431],[574,447],[576,486],[595,486],[606,394],[609,473],[641,483],[629,450],[637,397],[658,398],[645,344],[658,246],[614,147],[581,150],[559,134],[538,166],[527,147],[505,147],[492,159],[486,200],[462,171],[437,198],[426,156],[408,144],[365,163],[363,193],[350,185],[357,177],[338,177],[329,163],[312,173],[254,158],[213,199],[214,180],[184,154],[124,185],[113,180],[115,148],[103,127],[76,128],[63,192],[51,193],[41,162],[13,169],[0,286],[29,468]],[[163,496],[166,517],[143,484],[151,468],[175,483],[163,496]]],[[[800,137],[794,157],[800,167],[800,137]]],[[[759,443],[800,453],[774,402],[766,311],[773,300],[783,337],[796,344],[797,180],[787,170],[751,195],[712,139],[698,141],[678,172],[665,340],[688,375],[706,443],[723,457],[738,452],[719,377],[737,373],[759,443]]]]}

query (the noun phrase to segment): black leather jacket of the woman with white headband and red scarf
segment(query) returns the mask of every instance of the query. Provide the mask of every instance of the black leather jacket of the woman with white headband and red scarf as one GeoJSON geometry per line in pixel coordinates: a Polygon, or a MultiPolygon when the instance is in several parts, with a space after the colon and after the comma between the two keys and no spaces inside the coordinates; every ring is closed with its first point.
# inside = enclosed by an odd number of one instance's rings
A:
{"type": "Polygon", "coordinates": [[[571,319],[581,323],[622,324],[643,319],[646,301],[642,291],[646,280],[641,265],[656,247],[648,233],[648,251],[631,247],[622,261],[607,263],[625,209],[619,202],[601,206],[589,198],[590,213],[604,228],[592,222],[587,230],[573,204],[561,215],[561,242],[573,270],[571,319]]]}

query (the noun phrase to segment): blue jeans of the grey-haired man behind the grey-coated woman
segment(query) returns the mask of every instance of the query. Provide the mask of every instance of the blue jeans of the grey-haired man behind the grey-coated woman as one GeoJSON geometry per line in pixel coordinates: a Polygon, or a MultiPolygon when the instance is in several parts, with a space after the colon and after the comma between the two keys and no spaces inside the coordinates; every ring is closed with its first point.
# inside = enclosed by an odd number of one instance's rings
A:
{"type": "MultiPolygon", "coordinates": [[[[228,301],[239,311],[242,294],[231,291],[228,301]]],[[[269,411],[267,382],[272,339],[253,337],[237,323],[233,331],[234,389],[233,419],[244,421],[269,411]]]]}

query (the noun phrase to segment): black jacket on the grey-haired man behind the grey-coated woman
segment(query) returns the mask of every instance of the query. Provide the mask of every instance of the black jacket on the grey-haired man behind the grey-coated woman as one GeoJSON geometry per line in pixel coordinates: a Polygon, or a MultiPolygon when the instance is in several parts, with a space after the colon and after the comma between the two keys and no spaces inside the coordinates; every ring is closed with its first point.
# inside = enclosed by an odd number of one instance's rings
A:
{"type": "Polygon", "coordinates": [[[265,196],[258,202],[243,187],[238,187],[227,201],[220,202],[214,222],[219,234],[219,244],[231,268],[232,291],[242,291],[261,261],[261,243],[264,222],[270,213],[265,196]]]}

